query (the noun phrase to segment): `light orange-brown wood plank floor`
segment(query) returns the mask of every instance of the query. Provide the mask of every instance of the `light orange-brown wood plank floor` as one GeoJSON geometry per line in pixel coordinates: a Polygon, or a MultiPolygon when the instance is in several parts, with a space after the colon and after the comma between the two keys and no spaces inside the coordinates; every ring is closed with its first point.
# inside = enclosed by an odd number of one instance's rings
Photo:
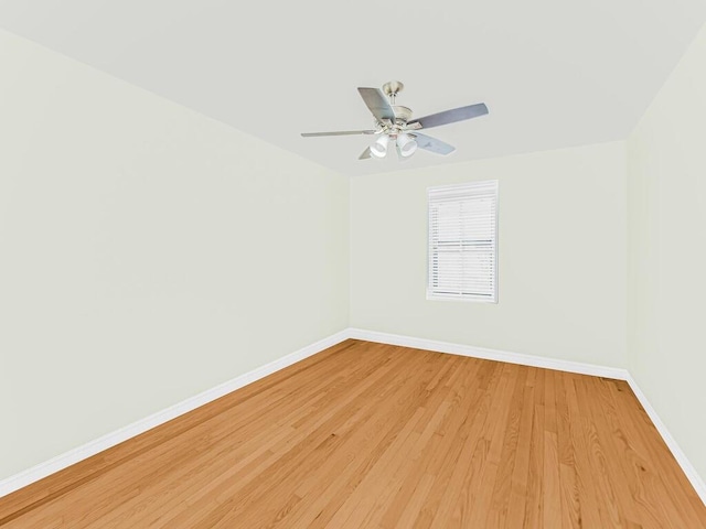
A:
{"type": "Polygon", "coordinates": [[[625,382],[347,341],[0,499],[10,528],[706,528],[625,382]]]}

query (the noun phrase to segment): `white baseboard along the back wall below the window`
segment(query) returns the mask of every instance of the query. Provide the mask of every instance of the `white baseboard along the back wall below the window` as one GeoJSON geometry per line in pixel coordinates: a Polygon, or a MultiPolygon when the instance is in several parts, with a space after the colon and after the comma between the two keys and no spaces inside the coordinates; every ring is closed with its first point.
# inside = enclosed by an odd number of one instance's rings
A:
{"type": "Polygon", "coordinates": [[[499,349],[486,349],[484,347],[451,344],[449,342],[437,342],[436,339],[415,338],[398,334],[378,333],[362,328],[349,328],[349,333],[351,338],[378,342],[381,344],[402,345],[404,347],[435,350],[437,353],[449,353],[451,355],[470,356],[473,358],[483,358],[485,360],[506,361],[509,364],[520,364],[523,366],[544,367],[546,369],[592,375],[595,377],[617,378],[619,380],[625,380],[628,378],[628,370],[619,367],[597,366],[595,364],[584,364],[580,361],[546,358],[544,356],[524,355],[522,353],[511,353],[499,349]]]}

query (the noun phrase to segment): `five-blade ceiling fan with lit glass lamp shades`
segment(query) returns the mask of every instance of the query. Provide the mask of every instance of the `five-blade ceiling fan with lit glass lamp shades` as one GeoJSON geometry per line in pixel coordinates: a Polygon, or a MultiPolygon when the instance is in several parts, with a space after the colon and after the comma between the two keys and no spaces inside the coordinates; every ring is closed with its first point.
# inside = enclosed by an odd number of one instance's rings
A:
{"type": "Polygon", "coordinates": [[[400,159],[413,155],[417,149],[424,149],[437,154],[447,155],[456,150],[454,147],[445,143],[441,140],[431,138],[419,132],[421,129],[430,129],[441,125],[454,123],[466,119],[478,118],[488,114],[488,107],[484,102],[469,105],[468,107],[453,108],[443,112],[432,114],[411,120],[411,109],[395,105],[397,94],[399,94],[405,85],[398,80],[391,80],[383,85],[383,89],[362,88],[357,91],[361,94],[363,101],[375,117],[375,128],[370,130],[341,130],[334,132],[303,132],[304,138],[318,136],[354,136],[354,134],[375,134],[377,140],[365,149],[359,156],[359,160],[368,158],[385,158],[387,154],[387,145],[391,141],[397,148],[397,154],[400,159]],[[389,102],[385,98],[389,98],[389,102]]]}

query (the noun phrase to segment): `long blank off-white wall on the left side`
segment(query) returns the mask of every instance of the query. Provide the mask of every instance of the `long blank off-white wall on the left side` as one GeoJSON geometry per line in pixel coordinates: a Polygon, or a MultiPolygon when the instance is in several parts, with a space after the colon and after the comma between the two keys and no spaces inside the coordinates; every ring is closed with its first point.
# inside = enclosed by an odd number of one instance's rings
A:
{"type": "Polygon", "coordinates": [[[4,32],[0,145],[0,479],[346,327],[346,179],[4,32]]]}

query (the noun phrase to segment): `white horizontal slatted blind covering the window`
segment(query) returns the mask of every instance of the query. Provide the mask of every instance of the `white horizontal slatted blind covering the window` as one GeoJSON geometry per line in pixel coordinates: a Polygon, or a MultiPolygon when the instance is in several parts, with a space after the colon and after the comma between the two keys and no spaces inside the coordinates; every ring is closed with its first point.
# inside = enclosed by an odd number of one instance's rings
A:
{"type": "Polygon", "coordinates": [[[498,301],[498,181],[429,187],[428,299],[498,301]]]}

